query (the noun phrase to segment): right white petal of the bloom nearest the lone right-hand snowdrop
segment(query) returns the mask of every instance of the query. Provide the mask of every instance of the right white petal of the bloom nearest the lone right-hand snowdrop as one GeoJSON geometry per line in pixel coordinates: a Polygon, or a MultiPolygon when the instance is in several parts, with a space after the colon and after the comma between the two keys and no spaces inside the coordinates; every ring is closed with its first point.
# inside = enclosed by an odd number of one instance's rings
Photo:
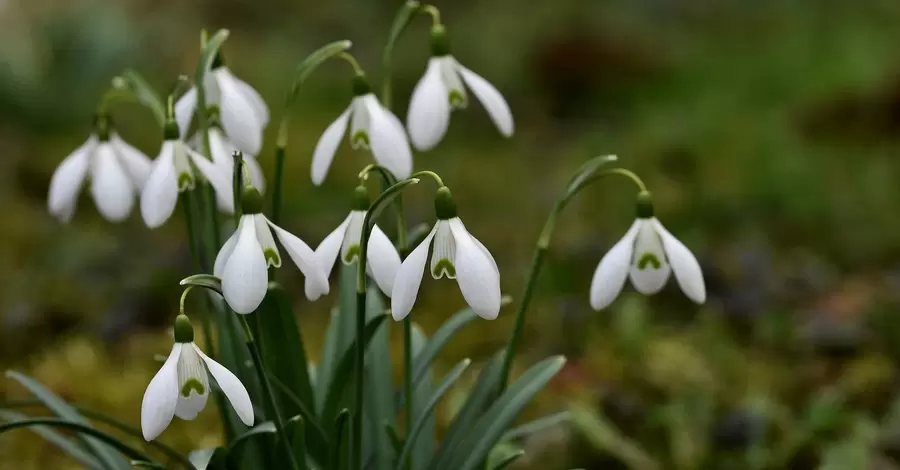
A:
{"type": "Polygon", "coordinates": [[[466,303],[481,318],[493,320],[500,314],[500,277],[491,257],[486,256],[475,237],[463,227],[459,218],[449,220],[456,242],[456,282],[466,303]]]}

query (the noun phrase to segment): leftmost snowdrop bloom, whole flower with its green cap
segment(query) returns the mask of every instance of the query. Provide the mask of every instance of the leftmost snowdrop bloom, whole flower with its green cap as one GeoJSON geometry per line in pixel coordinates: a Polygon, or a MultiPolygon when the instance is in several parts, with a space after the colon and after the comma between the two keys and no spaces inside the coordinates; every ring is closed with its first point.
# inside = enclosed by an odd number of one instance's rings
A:
{"type": "Polygon", "coordinates": [[[100,214],[110,222],[125,220],[150,174],[150,159],[116,135],[108,117],[98,116],[94,127],[95,133],[60,163],[50,180],[47,206],[62,222],[75,215],[87,179],[100,214]]]}

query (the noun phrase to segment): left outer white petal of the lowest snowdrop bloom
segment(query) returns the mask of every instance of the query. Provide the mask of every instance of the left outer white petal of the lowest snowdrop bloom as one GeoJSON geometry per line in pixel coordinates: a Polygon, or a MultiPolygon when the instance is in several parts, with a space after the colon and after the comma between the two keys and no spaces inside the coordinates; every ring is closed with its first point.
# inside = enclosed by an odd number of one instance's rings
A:
{"type": "Polygon", "coordinates": [[[141,402],[141,432],[147,442],[156,439],[172,422],[178,401],[178,357],[181,343],[172,346],[172,352],[159,372],[153,376],[141,402]]]}

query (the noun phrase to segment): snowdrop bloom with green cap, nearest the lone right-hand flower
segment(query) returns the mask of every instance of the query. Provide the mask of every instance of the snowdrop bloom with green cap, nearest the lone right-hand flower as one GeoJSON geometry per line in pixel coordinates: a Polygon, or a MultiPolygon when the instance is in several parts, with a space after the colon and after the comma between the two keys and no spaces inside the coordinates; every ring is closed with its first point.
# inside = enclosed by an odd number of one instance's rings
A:
{"type": "Polygon", "coordinates": [[[437,223],[397,271],[391,293],[394,320],[402,320],[412,310],[432,244],[431,276],[456,279],[466,303],[475,313],[487,320],[497,318],[500,313],[500,271],[494,257],[466,231],[456,215],[456,204],[446,186],[438,189],[434,208],[437,223]]]}

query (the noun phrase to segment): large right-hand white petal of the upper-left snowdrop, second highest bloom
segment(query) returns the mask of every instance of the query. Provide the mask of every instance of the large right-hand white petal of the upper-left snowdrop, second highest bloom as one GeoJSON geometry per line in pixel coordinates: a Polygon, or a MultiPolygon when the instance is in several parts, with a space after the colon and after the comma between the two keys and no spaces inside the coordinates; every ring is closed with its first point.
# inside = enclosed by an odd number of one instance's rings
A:
{"type": "Polygon", "coordinates": [[[225,67],[215,72],[216,83],[221,92],[219,112],[222,127],[237,148],[256,155],[262,147],[263,116],[258,116],[254,104],[247,99],[243,90],[235,84],[237,80],[225,67]]]}

